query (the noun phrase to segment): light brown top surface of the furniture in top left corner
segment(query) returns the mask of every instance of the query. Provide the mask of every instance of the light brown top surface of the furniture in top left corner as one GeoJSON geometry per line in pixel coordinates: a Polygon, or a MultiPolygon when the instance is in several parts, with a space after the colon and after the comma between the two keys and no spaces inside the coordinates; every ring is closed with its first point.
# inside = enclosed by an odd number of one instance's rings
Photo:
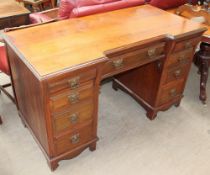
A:
{"type": "Polygon", "coordinates": [[[29,10],[14,1],[0,2],[0,18],[30,13],[29,10]]]}

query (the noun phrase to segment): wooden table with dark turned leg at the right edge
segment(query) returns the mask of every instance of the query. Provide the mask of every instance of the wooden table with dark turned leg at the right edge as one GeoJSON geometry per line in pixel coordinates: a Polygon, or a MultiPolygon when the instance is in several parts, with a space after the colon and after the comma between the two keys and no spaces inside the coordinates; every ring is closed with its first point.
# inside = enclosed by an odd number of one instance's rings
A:
{"type": "MultiPolygon", "coordinates": [[[[194,63],[199,69],[201,75],[200,78],[200,100],[205,104],[207,99],[206,84],[208,80],[208,72],[210,67],[210,13],[209,9],[203,9],[201,6],[183,5],[175,10],[175,13],[186,17],[188,19],[194,19],[195,17],[201,18],[202,23],[208,29],[202,36],[202,42],[200,44],[199,51],[196,52],[194,57],[194,63]]],[[[198,18],[197,18],[198,20],[198,18]]]]}

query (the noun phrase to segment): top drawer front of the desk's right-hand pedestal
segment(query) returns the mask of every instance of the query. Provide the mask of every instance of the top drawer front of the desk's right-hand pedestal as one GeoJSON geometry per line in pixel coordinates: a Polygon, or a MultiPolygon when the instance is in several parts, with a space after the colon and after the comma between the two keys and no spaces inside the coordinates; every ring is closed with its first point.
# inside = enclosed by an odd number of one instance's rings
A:
{"type": "Polygon", "coordinates": [[[200,40],[201,38],[198,37],[198,38],[192,38],[192,39],[177,42],[174,47],[173,52],[178,52],[178,51],[182,51],[182,50],[190,49],[190,48],[193,49],[199,43],[200,40]]]}

